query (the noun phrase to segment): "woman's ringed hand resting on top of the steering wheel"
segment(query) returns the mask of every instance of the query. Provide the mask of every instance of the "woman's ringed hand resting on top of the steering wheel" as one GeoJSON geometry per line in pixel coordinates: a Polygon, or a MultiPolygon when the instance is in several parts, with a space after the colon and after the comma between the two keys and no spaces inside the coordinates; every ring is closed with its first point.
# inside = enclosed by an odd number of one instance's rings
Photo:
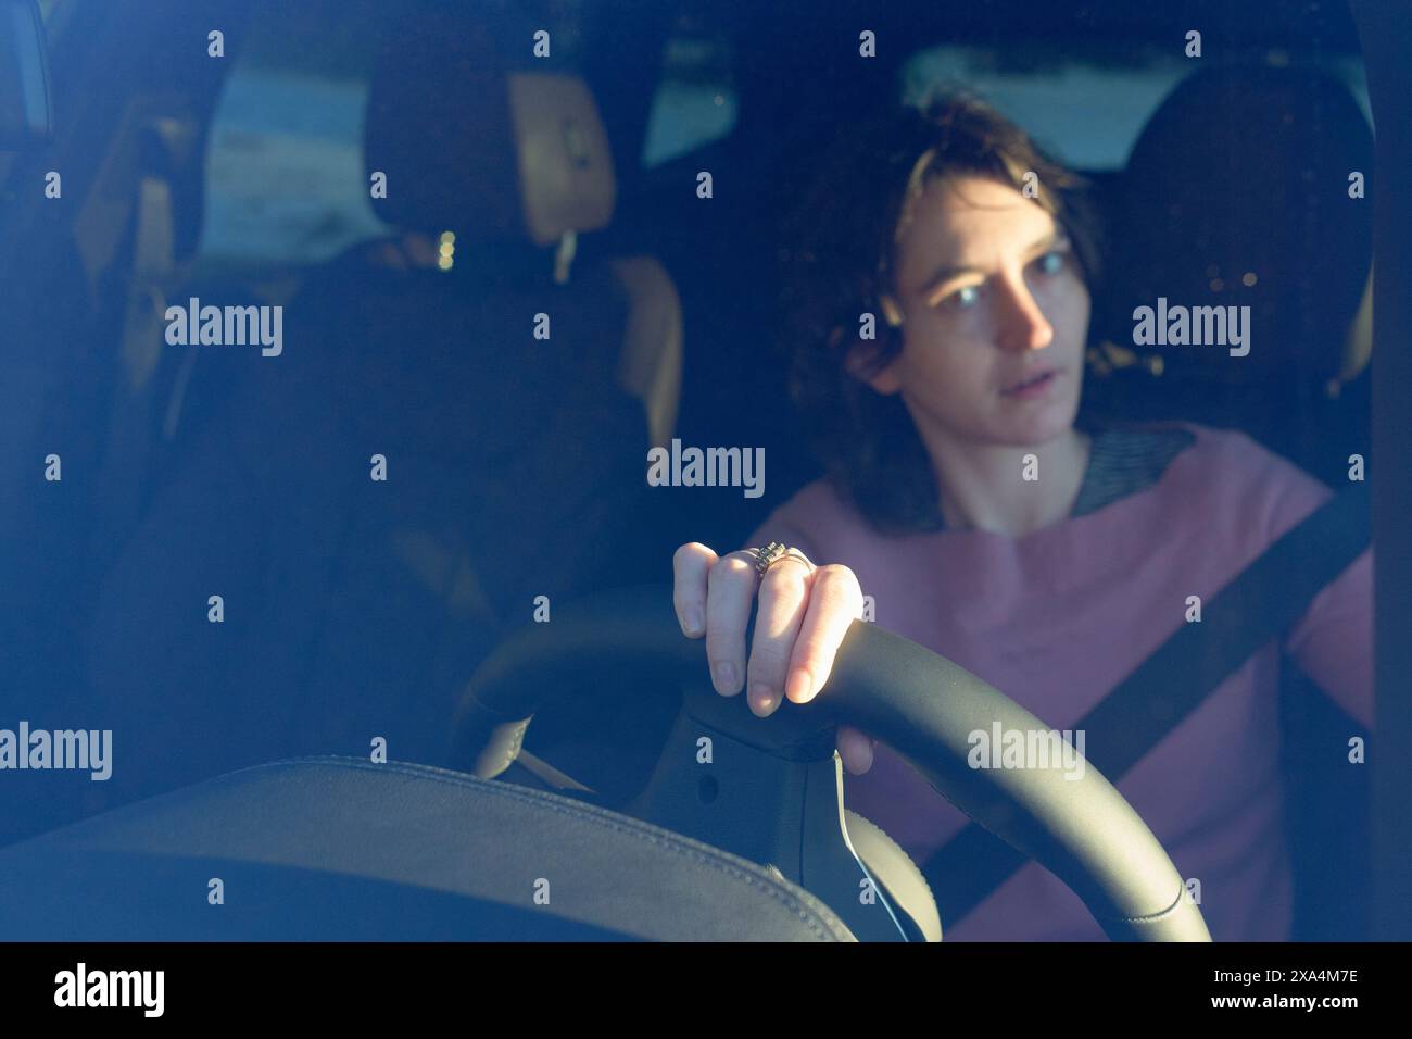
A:
{"type": "MultiPolygon", "coordinates": [[[[788,695],[806,704],[829,680],[839,643],[863,615],[858,578],[842,564],[815,567],[786,556],[755,574],[750,550],[716,556],[699,541],[672,556],[672,606],[682,632],[706,636],[716,691],[733,697],[747,688],[750,710],[768,718],[788,695]],[[746,663],[746,626],[760,592],[755,640],[746,663]]],[[[839,756],[853,775],[873,768],[875,739],[847,725],[839,727],[839,756]]]]}

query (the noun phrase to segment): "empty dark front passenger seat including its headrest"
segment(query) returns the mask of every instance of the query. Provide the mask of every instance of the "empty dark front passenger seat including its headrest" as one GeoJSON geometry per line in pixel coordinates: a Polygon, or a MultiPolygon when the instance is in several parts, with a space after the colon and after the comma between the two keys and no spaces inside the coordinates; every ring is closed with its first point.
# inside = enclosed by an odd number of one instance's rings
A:
{"type": "Polygon", "coordinates": [[[592,98],[513,75],[470,23],[414,31],[417,64],[391,44],[374,79],[367,167],[400,232],[455,233],[450,269],[350,252],[288,301],[280,358],[198,356],[233,385],[192,397],[225,403],[103,582],[85,724],[114,729],[117,763],[85,810],[376,736],[439,763],[465,681],[535,597],[669,580],[675,499],[644,469],[679,315],[650,257],[572,262],[613,211],[592,98]]]}

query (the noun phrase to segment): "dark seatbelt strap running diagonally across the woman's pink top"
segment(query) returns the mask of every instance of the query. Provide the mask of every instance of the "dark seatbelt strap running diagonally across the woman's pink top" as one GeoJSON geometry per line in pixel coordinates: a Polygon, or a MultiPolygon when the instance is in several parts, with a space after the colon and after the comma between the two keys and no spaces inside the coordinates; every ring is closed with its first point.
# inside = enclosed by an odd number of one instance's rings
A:
{"type": "MultiPolygon", "coordinates": [[[[1127,775],[1363,553],[1368,520],[1368,492],[1354,483],[1274,541],[1204,606],[1219,619],[1183,623],[1075,722],[1075,729],[1103,734],[1101,742],[1087,741],[1101,748],[1089,758],[1093,766],[1114,785],[1127,775]]],[[[942,920],[953,926],[1028,861],[973,821],[928,858],[922,874],[942,920]]]]}

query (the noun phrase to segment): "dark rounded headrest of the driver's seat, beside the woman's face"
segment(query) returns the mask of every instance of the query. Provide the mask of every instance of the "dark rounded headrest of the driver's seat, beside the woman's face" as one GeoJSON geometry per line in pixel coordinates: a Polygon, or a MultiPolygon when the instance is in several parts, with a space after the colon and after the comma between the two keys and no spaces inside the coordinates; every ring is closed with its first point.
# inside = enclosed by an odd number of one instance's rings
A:
{"type": "MultiPolygon", "coordinates": [[[[1128,158],[1113,228],[1114,324],[1134,307],[1250,305],[1251,351],[1163,348],[1223,380],[1327,377],[1371,262],[1372,131],[1340,82],[1217,68],[1182,82],[1128,158]],[[1254,284],[1250,284],[1254,281],[1254,284]]],[[[1128,321],[1131,327],[1131,319],[1128,321]]]]}

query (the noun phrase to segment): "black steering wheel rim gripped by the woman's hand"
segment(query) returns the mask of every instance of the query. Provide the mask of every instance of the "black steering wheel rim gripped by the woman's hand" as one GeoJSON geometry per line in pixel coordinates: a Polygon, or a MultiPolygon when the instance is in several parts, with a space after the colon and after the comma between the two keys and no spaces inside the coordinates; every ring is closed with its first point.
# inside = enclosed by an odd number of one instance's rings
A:
{"type": "MultiPolygon", "coordinates": [[[[504,772],[520,753],[531,717],[565,690],[631,681],[635,688],[655,687],[644,695],[675,695],[703,687],[705,642],[681,633],[671,601],[664,585],[614,589],[514,632],[463,695],[453,768],[474,762],[483,779],[504,772]]],[[[967,765],[969,735],[977,729],[988,732],[995,722],[1019,731],[1048,727],[909,639],[854,621],[819,695],[806,705],[784,704],[771,718],[750,714],[744,697],[709,693],[698,703],[719,704],[710,708],[717,728],[792,762],[832,756],[836,727],[853,725],[888,744],[949,802],[1059,876],[1108,937],[1210,941],[1200,909],[1156,837],[1091,765],[1077,779],[1059,768],[967,765]]]]}

